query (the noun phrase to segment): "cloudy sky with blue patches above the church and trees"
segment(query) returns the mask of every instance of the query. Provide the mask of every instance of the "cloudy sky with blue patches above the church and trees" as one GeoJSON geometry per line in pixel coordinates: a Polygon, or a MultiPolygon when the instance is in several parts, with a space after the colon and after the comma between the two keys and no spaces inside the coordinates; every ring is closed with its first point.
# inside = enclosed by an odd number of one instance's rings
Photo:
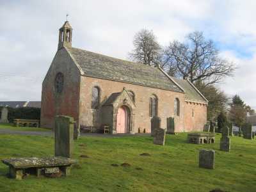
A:
{"type": "Polygon", "coordinates": [[[203,31],[222,57],[239,67],[219,84],[256,108],[256,1],[4,1],[0,0],[0,100],[40,100],[58,46],[58,29],[72,26],[72,46],[127,59],[132,38],[152,29],[161,45],[203,31]]]}

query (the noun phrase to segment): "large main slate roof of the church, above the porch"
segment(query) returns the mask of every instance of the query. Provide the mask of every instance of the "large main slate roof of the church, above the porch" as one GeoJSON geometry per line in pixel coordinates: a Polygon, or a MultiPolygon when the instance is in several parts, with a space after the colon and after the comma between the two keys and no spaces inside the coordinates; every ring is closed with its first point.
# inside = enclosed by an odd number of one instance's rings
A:
{"type": "Polygon", "coordinates": [[[74,47],[65,48],[78,65],[83,76],[184,93],[182,88],[179,88],[158,67],[119,60],[74,47]]]}

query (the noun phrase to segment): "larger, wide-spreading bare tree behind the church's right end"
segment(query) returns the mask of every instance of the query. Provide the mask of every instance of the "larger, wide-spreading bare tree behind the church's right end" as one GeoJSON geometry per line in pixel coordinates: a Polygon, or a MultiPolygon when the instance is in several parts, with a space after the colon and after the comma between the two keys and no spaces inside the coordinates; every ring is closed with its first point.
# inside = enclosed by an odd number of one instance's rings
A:
{"type": "Polygon", "coordinates": [[[164,49],[163,64],[171,76],[188,79],[192,83],[204,81],[205,86],[232,76],[234,64],[220,58],[218,49],[211,40],[205,40],[202,32],[187,36],[186,44],[173,41],[164,49]]]}

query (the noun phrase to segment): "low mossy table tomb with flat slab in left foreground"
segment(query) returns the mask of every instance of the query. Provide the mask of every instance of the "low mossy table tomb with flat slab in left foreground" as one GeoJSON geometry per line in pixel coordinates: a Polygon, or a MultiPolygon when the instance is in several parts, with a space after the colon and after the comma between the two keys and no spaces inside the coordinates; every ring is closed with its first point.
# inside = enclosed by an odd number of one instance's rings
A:
{"type": "Polygon", "coordinates": [[[10,177],[21,180],[24,175],[35,174],[37,177],[45,175],[67,176],[70,175],[72,164],[76,160],[67,157],[28,157],[3,159],[2,162],[9,166],[10,177]]]}

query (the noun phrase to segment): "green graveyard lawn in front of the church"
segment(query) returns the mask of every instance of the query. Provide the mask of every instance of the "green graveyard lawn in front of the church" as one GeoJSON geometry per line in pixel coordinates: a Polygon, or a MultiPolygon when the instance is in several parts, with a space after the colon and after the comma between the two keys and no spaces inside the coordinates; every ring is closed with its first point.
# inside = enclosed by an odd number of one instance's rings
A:
{"type": "MultiPolygon", "coordinates": [[[[70,177],[8,179],[8,167],[0,163],[0,191],[256,191],[256,140],[234,136],[228,153],[219,150],[220,135],[212,145],[186,143],[186,136],[167,135],[165,146],[153,145],[150,136],[82,137],[75,141],[74,158],[79,164],[70,177]],[[201,148],[216,150],[214,170],[198,168],[201,148]]],[[[54,139],[4,134],[0,151],[0,159],[52,156],[54,139]]]]}

